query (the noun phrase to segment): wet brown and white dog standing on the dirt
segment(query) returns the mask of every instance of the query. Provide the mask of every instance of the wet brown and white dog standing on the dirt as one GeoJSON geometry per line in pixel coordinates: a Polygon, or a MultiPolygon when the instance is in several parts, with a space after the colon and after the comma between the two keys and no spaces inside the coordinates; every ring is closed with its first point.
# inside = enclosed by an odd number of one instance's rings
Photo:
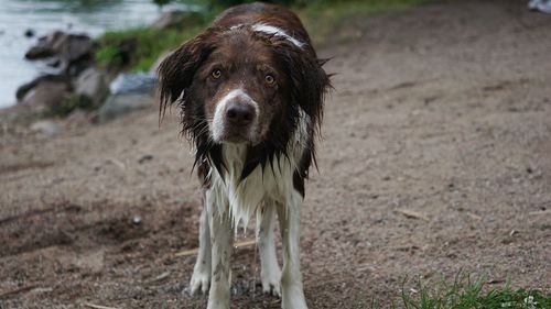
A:
{"type": "Polygon", "coordinates": [[[229,308],[234,229],[257,216],[261,282],[282,307],[304,309],[299,224],[329,78],[298,16],[271,4],[223,12],[159,67],[161,114],[179,102],[204,186],[191,291],[229,308]],[[276,256],[278,213],[283,271],[276,256]]]}

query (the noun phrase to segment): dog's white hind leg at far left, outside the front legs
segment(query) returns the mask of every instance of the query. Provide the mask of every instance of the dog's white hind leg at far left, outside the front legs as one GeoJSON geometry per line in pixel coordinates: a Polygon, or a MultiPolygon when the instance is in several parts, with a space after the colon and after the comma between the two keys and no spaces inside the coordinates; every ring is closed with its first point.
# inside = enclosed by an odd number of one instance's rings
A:
{"type": "MultiPolygon", "coordinates": [[[[203,199],[205,203],[206,199],[203,199]]],[[[199,219],[199,252],[195,267],[193,267],[192,280],[190,282],[190,293],[194,295],[198,290],[203,294],[208,291],[210,283],[210,228],[208,227],[207,206],[203,206],[199,219]]]]}

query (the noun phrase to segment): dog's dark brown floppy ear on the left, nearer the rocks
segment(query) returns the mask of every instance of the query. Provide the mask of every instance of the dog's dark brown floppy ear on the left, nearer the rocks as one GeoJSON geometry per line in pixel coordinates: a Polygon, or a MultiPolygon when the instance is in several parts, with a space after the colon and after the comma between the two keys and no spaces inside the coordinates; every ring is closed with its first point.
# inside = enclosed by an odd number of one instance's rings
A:
{"type": "Polygon", "coordinates": [[[209,40],[212,32],[212,30],[206,30],[185,42],[159,65],[160,118],[164,115],[166,107],[175,102],[182,92],[185,96],[185,89],[192,85],[195,71],[213,51],[214,46],[209,40]]]}

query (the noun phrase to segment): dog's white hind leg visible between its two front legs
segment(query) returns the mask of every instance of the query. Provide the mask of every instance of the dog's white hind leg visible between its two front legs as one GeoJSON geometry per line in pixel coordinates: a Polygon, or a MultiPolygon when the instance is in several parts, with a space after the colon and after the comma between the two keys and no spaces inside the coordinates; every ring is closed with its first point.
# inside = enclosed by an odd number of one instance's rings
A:
{"type": "Polygon", "coordinates": [[[266,294],[281,296],[281,271],[276,255],[273,223],[276,207],[267,201],[261,211],[257,211],[257,243],[260,251],[260,279],[266,294]]]}

